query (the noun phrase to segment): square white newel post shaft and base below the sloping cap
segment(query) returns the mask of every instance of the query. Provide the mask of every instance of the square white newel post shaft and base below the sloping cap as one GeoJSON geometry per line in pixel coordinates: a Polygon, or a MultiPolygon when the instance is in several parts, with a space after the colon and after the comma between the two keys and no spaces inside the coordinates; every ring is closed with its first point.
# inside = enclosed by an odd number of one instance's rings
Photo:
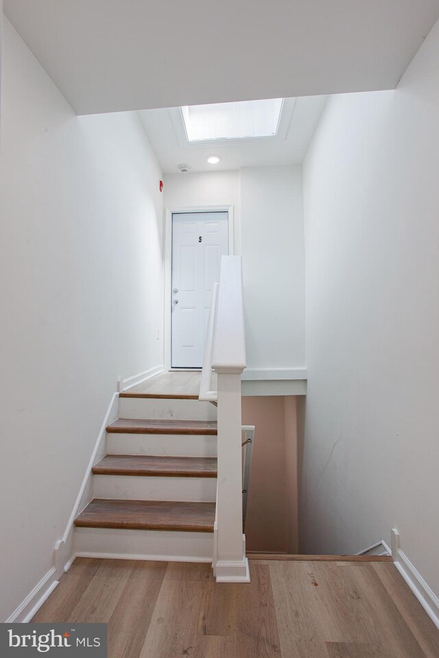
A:
{"type": "Polygon", "coordinates": [[[215,368],[218,375],[217,582],[249,582],[242,531],[242,369],[215,368]]]}

